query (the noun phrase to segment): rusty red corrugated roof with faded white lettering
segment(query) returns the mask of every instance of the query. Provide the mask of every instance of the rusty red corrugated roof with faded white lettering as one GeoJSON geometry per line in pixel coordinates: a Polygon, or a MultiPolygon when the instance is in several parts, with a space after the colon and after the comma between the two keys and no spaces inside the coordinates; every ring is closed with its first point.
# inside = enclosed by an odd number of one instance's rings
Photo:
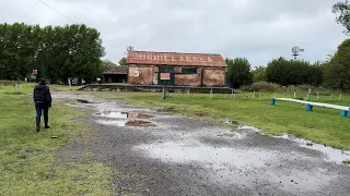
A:
{"type": "Polygon", "coordinates": [[[129,51],[128,64],[228,66],[220,54],[129,51]]]}

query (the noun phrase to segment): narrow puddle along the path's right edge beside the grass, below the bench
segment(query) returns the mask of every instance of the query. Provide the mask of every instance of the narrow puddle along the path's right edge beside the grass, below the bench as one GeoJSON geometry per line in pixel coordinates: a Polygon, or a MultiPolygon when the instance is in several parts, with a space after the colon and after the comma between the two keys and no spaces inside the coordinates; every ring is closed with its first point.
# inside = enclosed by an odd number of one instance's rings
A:
{"type": "Polygon", "coordinates": [[[335,149],[325,145],[315,144],[311,140],[298,138],[289,134],[285,134],[282,136],[275,136],[275,137],[293,140],[300,144],[302,147],[318,150],[327,156],[327,158],[325,159],[326,161],[342,163],[343,161],[350,160],[350,151],[342,151],[340,149],[335,149]]]}

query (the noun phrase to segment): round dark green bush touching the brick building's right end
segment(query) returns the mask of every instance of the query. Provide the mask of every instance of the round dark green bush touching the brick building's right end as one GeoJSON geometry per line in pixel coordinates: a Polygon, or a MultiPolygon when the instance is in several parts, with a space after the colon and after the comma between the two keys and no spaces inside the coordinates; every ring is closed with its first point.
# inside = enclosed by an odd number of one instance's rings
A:
{"type": "Polygon", "coordinates": [[[242,85],[253,83],[250,73],[250,63],[245,58],[234,60],[226,59],[228,71],[225,73],[226,83],[233,88],[240,88],[242,85]]]}

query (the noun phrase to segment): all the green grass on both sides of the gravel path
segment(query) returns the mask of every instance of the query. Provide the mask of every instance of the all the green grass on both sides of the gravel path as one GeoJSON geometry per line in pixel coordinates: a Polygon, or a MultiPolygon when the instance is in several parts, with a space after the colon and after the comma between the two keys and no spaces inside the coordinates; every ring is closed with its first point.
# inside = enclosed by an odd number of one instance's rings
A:
{"type": "MultiPolygon", "coordinates": [[[[67,86],[49,85],[51,91],[70,90],[67,86]]],[[[82,137],[84,125],[71,118],[83,115],[71,108],[54,102],[50,110],[51,128],[35,132],[35,110],[32,100],[34,84],[0,85],[0,195],[112,195],[110,177],[115,176],[109,167],[94,162],[86,150],[85,163],[61,162],[57,150],[69,140],[82,137]],[[51,138],[57,136],[58,138],[51,138]]],[[[75,90],[77,87],[73,88],[75,90]]],[[[290,133],[316,143],[340,149],[350,149],[350,118],[341,118],[340,111],[314,108],[306,112],[305,106],[277,101],[270,106],[271,97],[282,94],[257,93],[240,95],[189,95],[172,94],[163,100],[154,93],[94,93],[112,100],[127,100],[130,103],[151,107],[172,107],[175,112],[190,117],[208,113],[214,121],[236,120],[254,125],[265,133],[281,135],[290,133]],[[121,95],[121,96],[120,96],[121,95]],[[248,96],[248,100],[244,97],[248,96]]],[[[287,94],[284,97],[293,97],[287,94]]],[[[306,95],[298,95],[304,98],[306,95]]],[[[316,101],[315,95],[310,97],[316,101]]],[[[341,100],[329,95],[319,101],[350,106],[350,95],[341,100]]],[[[55,100],[56,101],[56,100],[55,100]]],[[[84,139],[81,138],[83,143],[84,139]]]]}

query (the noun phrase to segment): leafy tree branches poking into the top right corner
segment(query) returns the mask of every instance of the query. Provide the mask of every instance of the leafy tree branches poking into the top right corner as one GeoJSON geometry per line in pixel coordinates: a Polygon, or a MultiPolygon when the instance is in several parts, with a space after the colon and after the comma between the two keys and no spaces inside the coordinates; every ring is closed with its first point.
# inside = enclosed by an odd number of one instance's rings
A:
{"type": "Polygon", "coordinates": [[[332,5],[332,13],[336,14],[336,21],[346,27],[345,34],[350,35],[350,2],[349,0],[337,2],[332,5]]]}

